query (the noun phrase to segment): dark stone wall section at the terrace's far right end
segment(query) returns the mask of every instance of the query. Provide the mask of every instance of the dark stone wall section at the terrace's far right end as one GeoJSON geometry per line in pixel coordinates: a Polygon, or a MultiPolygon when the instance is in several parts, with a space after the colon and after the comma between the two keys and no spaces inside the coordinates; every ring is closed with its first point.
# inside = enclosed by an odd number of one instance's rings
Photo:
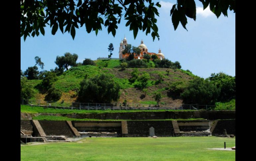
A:
{"type": "Polygon", "coordinates": [[[235,119],[234,120],[218,120],[212,135],[223,135],[223,129],[226,129],[227,134],[235,135],[235,119]]]}

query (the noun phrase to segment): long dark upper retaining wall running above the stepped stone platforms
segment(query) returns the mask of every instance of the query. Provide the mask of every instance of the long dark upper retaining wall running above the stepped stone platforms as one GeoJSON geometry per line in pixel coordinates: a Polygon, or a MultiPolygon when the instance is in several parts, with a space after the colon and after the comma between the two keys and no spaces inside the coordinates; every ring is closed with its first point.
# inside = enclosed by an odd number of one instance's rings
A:
{"type": "MultiPolygon", "coordinates": [[[[21,113],[21,120],[32,118],[30,114],[21,113]]],[[[31,114],[35,115],[35,114],[31,114]]],[[[105,114],[37,114],[44,116],[64,116],[75,119],[100,119],[100,120],[165,120],[165,119],[207,119],[222,120],[235,119],[235,111],[164,111],[164,112],[128,112],[105,114]]]]}

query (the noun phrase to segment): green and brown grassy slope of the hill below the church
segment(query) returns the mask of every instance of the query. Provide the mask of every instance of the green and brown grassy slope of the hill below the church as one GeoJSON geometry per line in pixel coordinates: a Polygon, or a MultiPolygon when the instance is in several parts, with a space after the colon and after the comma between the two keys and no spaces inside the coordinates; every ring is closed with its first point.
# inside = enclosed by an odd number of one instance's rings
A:
{"type": "MultiPolygon", "coordinates": [[[[181,70],[181,69],[167,69],[167,68],[138,68],[139,72],[150,74],[150,80],[146,87],[147,93],[143,98],[143,92],[136,88],[139,82],[134,83],[129,82],[131,77],[131,72],[134,68],[126,68],[122,70],[120,68],[115,68],[120,64],[119,60],[96,60],[96,66],[84,65],[79,67],[72,67],[68,71],[65,71],[62,75],[58,76],[58,80],[54,83],[55,87],[63,91],[62,97],[59,100],[61,102],[64,100],[65,103],[77,102],[76,97],[74,97],[75,88],[79,88],[79,83],[84,79],[85,75],[88,78],[94,77],[97,74],[107,74],[112,77],[112,79],[118,83],[121,87],[120,99],[117,103],[122,103],[127,100],[128,103],[134,104],[156,104],[154,98],[152,98],[155,91],[162,93],[161,104],[181,104],[182,100],[173,100],[168,96],[168,87],[170,83],[173,82],[184,82],[188,83],[189,80],[195,77],[191,72],[181,70]],[[169,74],[167,73],[169,70],[169,74]],[[164,75],[164,81],[162,83],[157,83],[159,80],[159,74],[164,75]]],[[[151,64],[149,62],[148,64],[151,64]]],[[[41,83],[42,80],[30,80],[34,87],[41,83]]],[[[41,94],[36,89],[37,94],[33,99],[44,100],[46,94],[41,94]]]]}

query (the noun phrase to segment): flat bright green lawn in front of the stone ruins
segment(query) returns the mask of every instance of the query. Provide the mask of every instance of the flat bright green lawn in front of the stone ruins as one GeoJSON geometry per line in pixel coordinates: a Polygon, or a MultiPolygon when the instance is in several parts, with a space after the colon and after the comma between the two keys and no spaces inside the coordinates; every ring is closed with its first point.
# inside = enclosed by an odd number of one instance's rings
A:
{"type": "Polygon", "coordinates": [[[78,142],[21,146],[21,161],[29,160],[171,160],[234,161],[235,151],[206,150],[235,146],[235,138],[208,137],[128,137],[84,138],[78,142]]]}

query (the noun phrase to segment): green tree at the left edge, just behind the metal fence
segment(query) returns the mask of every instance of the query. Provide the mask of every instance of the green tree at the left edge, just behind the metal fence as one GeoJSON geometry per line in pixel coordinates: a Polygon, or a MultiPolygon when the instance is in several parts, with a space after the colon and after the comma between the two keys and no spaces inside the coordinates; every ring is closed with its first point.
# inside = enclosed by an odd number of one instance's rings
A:
{"type": "Polygon", "coordinates": [[[21,78],[20,95],[23,99],[30,99],[35,95],[33,86],[28,82],[26,77],[21,78]]]}

